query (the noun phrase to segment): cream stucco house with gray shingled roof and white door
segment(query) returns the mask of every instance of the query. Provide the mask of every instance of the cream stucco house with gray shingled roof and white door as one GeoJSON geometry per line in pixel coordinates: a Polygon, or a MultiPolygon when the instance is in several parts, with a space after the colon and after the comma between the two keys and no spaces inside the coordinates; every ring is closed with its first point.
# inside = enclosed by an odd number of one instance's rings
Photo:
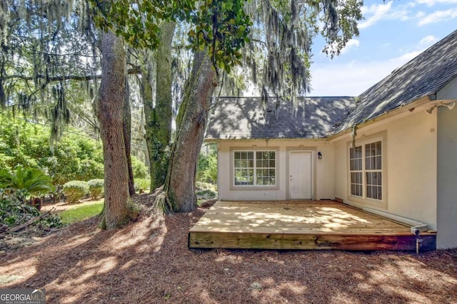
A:
{"type": "Polygon", "coordinates": [[[356,98],[221,98],[219,200],[336,199],[457,247],[457,31],[356,98]]]}

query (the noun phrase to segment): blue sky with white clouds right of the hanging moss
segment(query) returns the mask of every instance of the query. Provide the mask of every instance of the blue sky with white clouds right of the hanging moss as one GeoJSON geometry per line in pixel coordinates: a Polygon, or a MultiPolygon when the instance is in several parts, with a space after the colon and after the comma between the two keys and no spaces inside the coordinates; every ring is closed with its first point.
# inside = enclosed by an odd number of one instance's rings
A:
{"type": "Polygon", "coordinates": [[[341,55],[313,46],[309,96],[356,96],[457,29],[457,0],[366,0],[360,35],[341,55]]]}

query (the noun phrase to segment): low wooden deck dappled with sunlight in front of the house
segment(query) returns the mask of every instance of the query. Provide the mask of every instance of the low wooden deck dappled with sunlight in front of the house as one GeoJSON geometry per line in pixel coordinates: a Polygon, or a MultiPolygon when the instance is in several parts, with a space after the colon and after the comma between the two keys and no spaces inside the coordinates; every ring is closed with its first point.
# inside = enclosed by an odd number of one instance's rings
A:
{"type": "MultiPolygon", "coordinates": [[[[416,251],[410,228],[336,201],[217,201],[189,248],[416,251]]],[[[436,231],[420,237],[420,251],[436,248],[436,231]]]]}

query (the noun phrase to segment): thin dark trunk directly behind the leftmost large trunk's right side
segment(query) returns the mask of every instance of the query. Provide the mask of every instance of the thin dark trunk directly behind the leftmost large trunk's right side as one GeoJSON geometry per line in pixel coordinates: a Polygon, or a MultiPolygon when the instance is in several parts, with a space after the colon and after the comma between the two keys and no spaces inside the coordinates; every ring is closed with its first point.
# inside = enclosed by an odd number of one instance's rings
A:
{"type": "Polygon", "coordinates": [[[129,172],[129,195],[135,195],[134,170],[131,167],[131,111],[129,80],[125,78],[124,98],[124,144],[126,145],[127,171],[129,172]]]}

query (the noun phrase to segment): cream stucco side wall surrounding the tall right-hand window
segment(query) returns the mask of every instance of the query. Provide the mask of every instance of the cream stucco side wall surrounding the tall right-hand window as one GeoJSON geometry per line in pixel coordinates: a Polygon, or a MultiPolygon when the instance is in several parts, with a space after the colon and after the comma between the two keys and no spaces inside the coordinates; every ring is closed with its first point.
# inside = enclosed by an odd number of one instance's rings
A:
{"type": "MultiPolygon", "coordinates": [[[[357,130],[356,142],[383,132],[383,174],[387,197],[385,205],[356,203],[349,197],[349,135],[334,142],[335,195],[358,207],[379,209],[428,224],[437,229],[436,220],[436,111],[427,115],[422,109],[375,122],[357,130]]],[[[384,200],[384,199],[383,199],[384,200]]]]}

